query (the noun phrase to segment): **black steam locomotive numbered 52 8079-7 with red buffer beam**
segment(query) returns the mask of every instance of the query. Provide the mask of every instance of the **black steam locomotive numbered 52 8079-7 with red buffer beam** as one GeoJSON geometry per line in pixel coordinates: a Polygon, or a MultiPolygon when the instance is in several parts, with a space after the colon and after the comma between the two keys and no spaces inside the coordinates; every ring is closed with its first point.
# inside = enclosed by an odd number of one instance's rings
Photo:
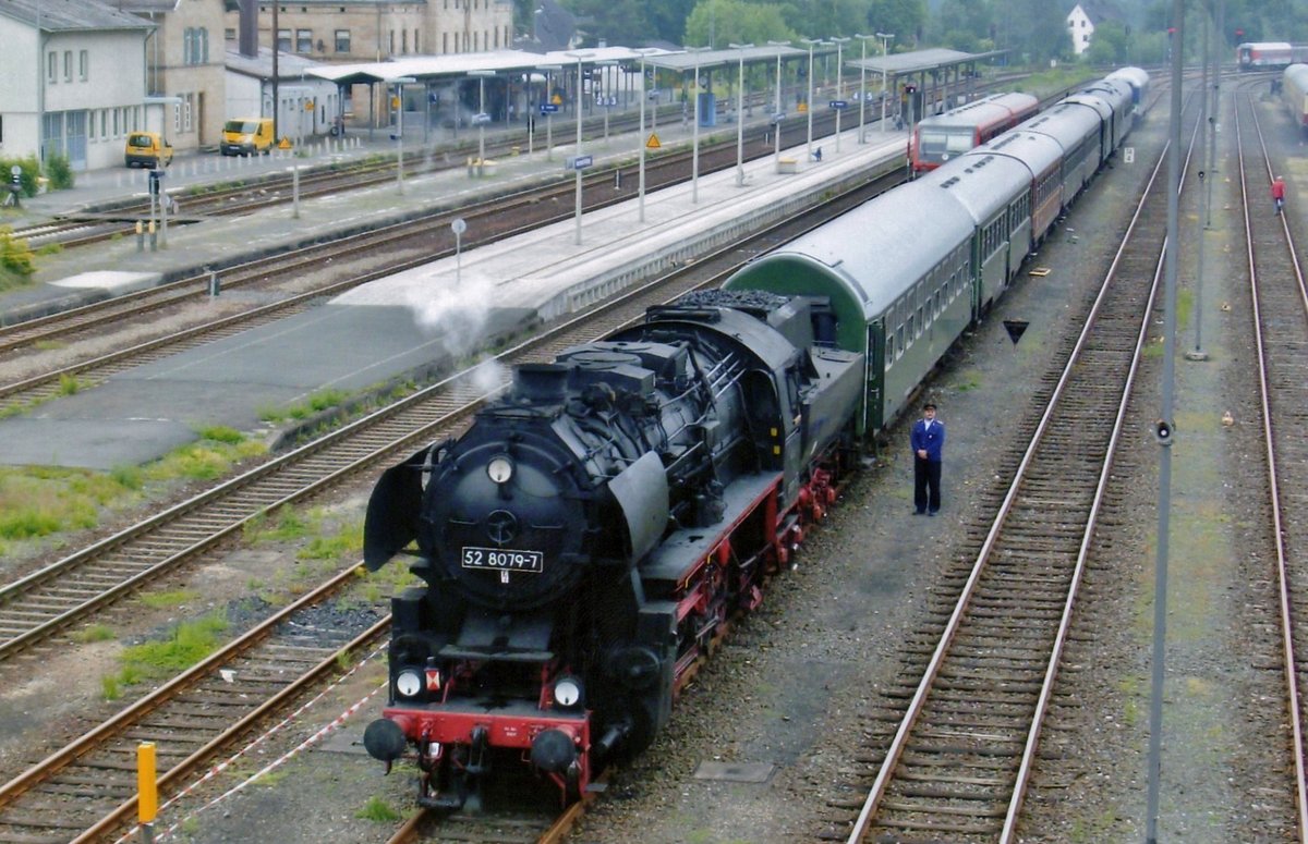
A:
{"type": "Polygon", "coordinates": [[[523,763],[576,800],[647,746],[857,457],[865,361],[833,334],[824,299],[691,294],[388,469],[365,559],[411,549],[426,585],[392,598],[368,751],[413,747],[420,802],[456,809],[523,763]]]}

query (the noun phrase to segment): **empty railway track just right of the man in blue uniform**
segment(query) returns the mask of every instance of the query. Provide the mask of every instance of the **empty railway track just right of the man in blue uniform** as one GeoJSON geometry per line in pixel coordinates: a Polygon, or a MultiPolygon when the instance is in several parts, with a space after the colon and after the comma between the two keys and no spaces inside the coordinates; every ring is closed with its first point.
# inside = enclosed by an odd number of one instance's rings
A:
{"type": "Polygon", "coordinates": [[[832,806],[857,817],[833,815],[828,837],[1015,840],[1160,287],[1162,163],[1044,410],[1022,423],[1029,444],[976,557],[947,575],[956,602],[910,640],[897,703],[869,717],[867,797],[832,806]]]}

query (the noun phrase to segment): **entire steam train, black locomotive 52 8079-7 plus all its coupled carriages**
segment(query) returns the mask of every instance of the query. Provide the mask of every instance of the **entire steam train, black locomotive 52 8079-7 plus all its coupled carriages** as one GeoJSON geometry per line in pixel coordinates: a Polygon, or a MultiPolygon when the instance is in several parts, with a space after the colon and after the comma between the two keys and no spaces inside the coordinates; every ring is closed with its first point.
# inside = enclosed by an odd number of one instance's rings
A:
{"type": "Polygon", "coordinates": [[[419,801],[500,766],[579,798],[662,728],[872,438],[1007,289],[1135,119],[1143,71],[776,250],[721,290],[519,367],[459,438],[386,470],[365,562],[413,557],[364,737],[419,801]]]}

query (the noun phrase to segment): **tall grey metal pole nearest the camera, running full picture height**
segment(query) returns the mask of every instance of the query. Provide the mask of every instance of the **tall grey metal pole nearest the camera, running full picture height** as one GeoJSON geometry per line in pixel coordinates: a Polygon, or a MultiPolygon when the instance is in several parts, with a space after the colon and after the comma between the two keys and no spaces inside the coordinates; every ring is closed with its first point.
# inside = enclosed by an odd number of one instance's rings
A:
{"type": "Polygon", "coordinates": [[[1150,679],[1148,713],[1148,794],[1146,798],[1144,841],[1158,841],[1158,811],[1163,755],[1163,686],[1167,660],[1167,558],[1168,532],[1172,515],[1172,384],[1176,371],[1176,257],[1180,203],[1177,191],[1181,184],[1181,52],[1185,43],[1185,13],[1181,0],[1172,0],[1172,119],[1168,137],[1172,150],[1167,157],[1167,248],[1165,278],[1163,294],[1163,376],[1159,421],[1155,432],[1159,436],[1158,470],[1158,554],[1154,560],[1154,652],[1152,674],[1150,679]]]}

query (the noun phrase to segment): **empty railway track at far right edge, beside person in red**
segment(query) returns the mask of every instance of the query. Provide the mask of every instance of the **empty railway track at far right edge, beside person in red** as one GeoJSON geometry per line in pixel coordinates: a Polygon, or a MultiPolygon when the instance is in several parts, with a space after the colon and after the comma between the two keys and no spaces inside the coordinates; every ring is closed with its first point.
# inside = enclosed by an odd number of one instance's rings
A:
{"type": "MultiPolygon", "coordinates": [[[[1240,158],[1249,295],[1257,351],[1269,533],[1274,549],[1270,580],[1279,604],[1279,657],[1284,673],[1288,753],[1294,762],[1296,840],[1308,841],[1308,775],[1304,760],[1304,702],[1308,687],[1308,285],[1286,216],[1267,217],[1273,169],[1252,98],[1237,98],[1235,135],[1240,158]],[[1243,125],[1249,131],[1243,131],[1243,125]],[[1245,145],[1254,135],[1257,148],[1245,145]]],[[[1278,739],[1281,737],[1278,736],[1278,739]]]]}

